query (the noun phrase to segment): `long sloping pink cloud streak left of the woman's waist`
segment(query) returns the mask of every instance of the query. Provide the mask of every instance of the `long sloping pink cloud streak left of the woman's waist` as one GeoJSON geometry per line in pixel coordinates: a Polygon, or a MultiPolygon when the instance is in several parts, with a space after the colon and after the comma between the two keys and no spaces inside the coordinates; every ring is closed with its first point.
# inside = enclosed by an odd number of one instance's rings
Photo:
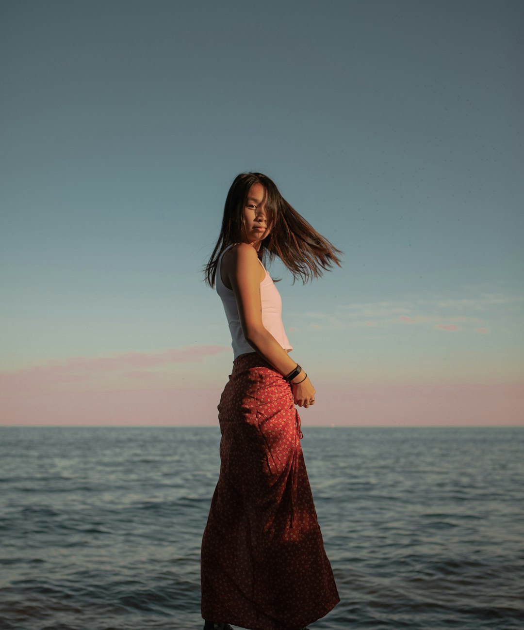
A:
{"type": "Polygon", "coordinates": [[[225,346],[187,346],[160,352],[125,352],[108,357],[71,357],[54,359],[44,365],[35,365],[21,370],[0,372],[0,389],[34,389],[47,384],[88,381],[98,375],[127,370],[124,375],[136,378],[153,378],[153,372],[144,369],[170,364],[201,362],[205,357],[230,351],[225,346]],[[131,368],[131,370],[129,370],[131,368]]]}

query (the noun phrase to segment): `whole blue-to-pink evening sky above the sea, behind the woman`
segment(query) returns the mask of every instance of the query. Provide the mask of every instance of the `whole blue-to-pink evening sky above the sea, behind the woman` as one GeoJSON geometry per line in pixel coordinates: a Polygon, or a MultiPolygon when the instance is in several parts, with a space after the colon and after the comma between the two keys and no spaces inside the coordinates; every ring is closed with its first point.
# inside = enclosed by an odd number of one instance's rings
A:
{"type": "Polygon", "coordinates": [[[524,3],[4,0],[3,425],[217,425],[243,171],[344,251],[303,425],[524,425],[524,3]]]}

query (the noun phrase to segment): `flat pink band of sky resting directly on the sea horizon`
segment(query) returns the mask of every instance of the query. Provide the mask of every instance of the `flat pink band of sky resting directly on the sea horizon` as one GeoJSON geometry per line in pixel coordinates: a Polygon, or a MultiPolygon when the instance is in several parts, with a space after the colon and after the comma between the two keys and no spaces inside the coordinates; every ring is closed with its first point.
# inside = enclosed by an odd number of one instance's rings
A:
{"type": "MultiPolygon", "coordinates": [[[[0,424],[218,426],[220,393],[136,389],[11,396],[3,401],[0,424]]],[[[315,426],[524,426],[524,385],[319,388],[317,404],[299,412],[315,426]]]]}

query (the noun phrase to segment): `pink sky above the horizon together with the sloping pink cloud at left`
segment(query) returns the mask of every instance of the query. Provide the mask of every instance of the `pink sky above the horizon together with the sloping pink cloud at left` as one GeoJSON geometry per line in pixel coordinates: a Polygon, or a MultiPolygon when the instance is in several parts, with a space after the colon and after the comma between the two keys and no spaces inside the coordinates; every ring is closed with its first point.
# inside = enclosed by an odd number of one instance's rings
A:
{"type": "MultiPolygon", "coordinates": [[[[218,425],[221,388],[202,388],[194,381],[166,387],[165,374],[145,369],[200,364],[230,351],[202,345],[71,357],[4,370],[0,425],[218,425]],[[122,370],[127,380],[115,388],[109,377],[122,370]]],[[[347,389],[320,384],[317,404],[300,413],[306,424],[327,426],[524,426],[524,383],[359,384],[347,389]]]]}

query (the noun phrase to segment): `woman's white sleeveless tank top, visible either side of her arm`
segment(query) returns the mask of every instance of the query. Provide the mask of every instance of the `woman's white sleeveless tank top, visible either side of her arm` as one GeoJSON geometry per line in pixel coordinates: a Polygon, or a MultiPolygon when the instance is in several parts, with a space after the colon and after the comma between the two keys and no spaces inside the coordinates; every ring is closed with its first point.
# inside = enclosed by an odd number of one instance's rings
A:
{"type": "MultiPolygon", "coordinates": [[[[228,318],[232,340],[231,346],[233,346],[235,359],[236,357],[240,357],[242,354],[256,351],[255,348],[248,343],[244,336],[242,324],[240,323],[240,316],[238,314],[238,307],[236,306],[235,294],[232,289],[228,289],[228,287],[226,287],[226,285],[222,282],[222,256],[231,247],[232,245],[226,247],[218,258],[218,264],[216,266],[216,291],[222,300],[224,311],[226,311],[226,317],[228,318]]],[[[259,263],[262,265],[260,260],[259,263]]],[[[264,324],[264,328],[271,333],[272,336],[274,336],[284,350],[293,350],[293,346],[289,343],[288,336],[284,330],[284,324],[282,324],[282,299],[271,276],[265,270],[264,265],[262,265],[262,269],[265,271],[265,278],[262,282],[260,282],[262,324],[264,324]]]]}

